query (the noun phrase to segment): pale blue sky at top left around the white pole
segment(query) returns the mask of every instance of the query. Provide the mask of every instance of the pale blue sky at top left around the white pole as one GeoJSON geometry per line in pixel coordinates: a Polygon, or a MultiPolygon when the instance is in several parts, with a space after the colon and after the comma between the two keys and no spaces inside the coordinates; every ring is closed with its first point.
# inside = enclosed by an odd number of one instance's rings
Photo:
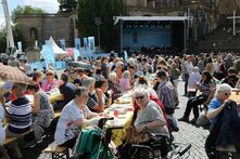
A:
{"type": "MultiPolygon", "coordinates": [[[[0,0],[0,2],[2,0],[0,0]]],[[[7,1],[9,4],[10,15],[17,5],[33,5],[35,8],[40,8],[48,13],[55,13],[59,10],[58,0],[7,0],[7,1]]],[[[4,13],[3,13],[2,3],[0,3],[0,27],[4,25],[3,23],[4,23],[4,13]]]]}

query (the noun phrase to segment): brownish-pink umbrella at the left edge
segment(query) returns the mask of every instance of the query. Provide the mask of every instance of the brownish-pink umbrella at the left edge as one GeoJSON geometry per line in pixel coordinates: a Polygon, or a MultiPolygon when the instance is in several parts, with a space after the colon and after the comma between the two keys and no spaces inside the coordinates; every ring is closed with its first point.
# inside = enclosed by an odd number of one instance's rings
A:
{"type": "Polygon", "coordinates": [[[0,80],[30,84],[31,80],[17,67],[5,66],[0,63],[0,80]]]}

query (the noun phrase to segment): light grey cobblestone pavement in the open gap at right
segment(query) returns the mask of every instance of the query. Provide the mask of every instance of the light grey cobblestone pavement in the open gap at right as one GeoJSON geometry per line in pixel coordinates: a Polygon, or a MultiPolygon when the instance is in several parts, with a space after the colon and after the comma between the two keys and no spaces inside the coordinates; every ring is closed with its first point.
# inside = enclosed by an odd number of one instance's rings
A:
{"type": "MultiPolygon", "coordinates": [[[[178,83],[178,94],[179,94],[179,109],[175,111],[175,118],[180,118],[184,115],[188,97],[182,96],[184,94],[184,82],[178,83]]],[[[192,117],[192,112],[190,119],[192,117]]],[[[192,145],[189,159],[207,159],[204,149],[205,138],[209,135],[209,130],[203,128],[197,128],[195,125],[179,121],[178,122],[180,131],[174,133],[175,142],[177,143],[190,143],[192,145]]]]}

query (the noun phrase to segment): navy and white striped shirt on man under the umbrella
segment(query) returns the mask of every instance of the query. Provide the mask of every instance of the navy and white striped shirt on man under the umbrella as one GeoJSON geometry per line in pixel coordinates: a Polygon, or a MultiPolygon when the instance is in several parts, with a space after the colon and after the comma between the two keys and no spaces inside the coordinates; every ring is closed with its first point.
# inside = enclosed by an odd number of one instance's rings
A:
{"type": "Polygon", "coordinates": [[[7,114],[9,115],[9,131],[13,133],[24,133],[30,130],[31,106],[26,97],[11,102],[7,114]]]}

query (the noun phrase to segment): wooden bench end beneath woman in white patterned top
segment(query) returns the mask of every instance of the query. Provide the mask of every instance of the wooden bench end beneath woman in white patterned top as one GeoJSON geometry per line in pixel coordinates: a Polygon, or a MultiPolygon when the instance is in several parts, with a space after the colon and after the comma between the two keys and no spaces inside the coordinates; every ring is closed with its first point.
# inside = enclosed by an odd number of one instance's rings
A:
{"type": "Polygon", "coordinates": [[[66,159],[70,159],[70,151],[67,147],[50,145],[43,150],[43,153],[51,154],[52,159],[65,159],[64,156],[66,156],[66,159]]]}

